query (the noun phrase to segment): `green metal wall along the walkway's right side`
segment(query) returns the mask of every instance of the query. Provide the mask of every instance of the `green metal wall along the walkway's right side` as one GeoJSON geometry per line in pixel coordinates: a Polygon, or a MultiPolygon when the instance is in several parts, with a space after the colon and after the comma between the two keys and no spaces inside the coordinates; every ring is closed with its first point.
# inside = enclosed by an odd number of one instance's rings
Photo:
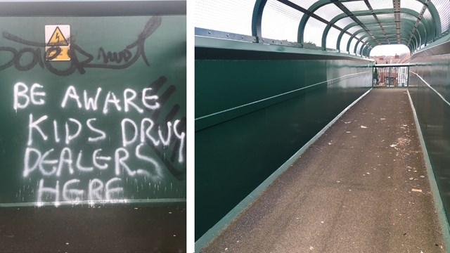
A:
{"type": "Polygon", "coordinates": [[[411,99],[439,195],[450,219],[450,43],[418,53],[411,63],[411,99]],[[416,74],[414,74],[416,73],[416,74]]]}

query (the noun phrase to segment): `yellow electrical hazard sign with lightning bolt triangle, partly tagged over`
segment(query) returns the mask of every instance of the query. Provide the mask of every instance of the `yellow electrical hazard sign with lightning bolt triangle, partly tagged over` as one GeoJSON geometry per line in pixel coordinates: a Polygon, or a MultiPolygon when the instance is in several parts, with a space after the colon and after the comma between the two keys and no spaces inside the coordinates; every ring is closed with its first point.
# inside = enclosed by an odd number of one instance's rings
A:
{"type": "Polygon", "coordinates": [[[46,60],[70,60],[70,25],[45,26],[46,60]]]}

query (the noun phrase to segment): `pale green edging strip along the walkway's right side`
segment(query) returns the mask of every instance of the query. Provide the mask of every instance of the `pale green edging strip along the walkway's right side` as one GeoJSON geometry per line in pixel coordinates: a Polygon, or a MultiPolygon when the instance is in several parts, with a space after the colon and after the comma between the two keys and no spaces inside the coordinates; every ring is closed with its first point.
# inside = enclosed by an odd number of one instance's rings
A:
{"type": "MultiPolygon", "coordinates": [[[[416,73],[414,73],[414,74],[416,74],[416,73]]],[[[414,121],[416,122],[416,129],[417,129],[419,140],[420,140],[420,146],[422,148],[423,160],[425,161],[425,167],[427,167],[428,181],[430,182],[430,188],[432,191],[433,200],[435,200],[434,201],[435,209],[436,209],[436,213],[437,213],[437,219],[439,221],[439,226],[441,227],[441,231],[442,231],[442,239],[444,240],[444,246],[446,248],[446,252],[449,252],[449,250],[450,250],[449,221],[447,220],[444,205],[442,204],[442,199],[441,199],[441,196],[439,195],[439,188],[437,188],[435,174],[432,171],[430,157],[428,156],[428,151],[427,151],[427,148],[425,147],[425,139],[423,138],[422,130],[420,129],[420,124],[419,124],[419,120],[418,120],[418,117],[416,114],[416,109],[414,108],[413,100],[411,98],[411,95],[409,94],[409,90],[408,90],[408,98],[409,98],[409,104],[411,105],[411,109],[413,110],[414,121]]]]}

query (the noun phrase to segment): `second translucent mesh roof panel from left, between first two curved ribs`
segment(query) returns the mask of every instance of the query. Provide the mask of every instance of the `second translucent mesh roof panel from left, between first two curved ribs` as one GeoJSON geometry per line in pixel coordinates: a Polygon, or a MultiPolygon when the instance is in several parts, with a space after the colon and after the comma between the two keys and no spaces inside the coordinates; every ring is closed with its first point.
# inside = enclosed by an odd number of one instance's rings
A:
{"type": "Polygon", "coordinates": [[[262,37],[297,42],[303,13],[276,0],[268,0],[262,13],[262,37]]]}

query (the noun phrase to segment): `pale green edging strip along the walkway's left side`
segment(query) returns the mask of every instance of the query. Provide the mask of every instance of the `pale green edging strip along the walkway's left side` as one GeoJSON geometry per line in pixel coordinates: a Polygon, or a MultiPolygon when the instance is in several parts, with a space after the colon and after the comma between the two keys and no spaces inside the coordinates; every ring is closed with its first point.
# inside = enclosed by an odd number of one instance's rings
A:
{"type": "Polygon", "coordinates": [[[300,150],[298,150],[292,157],[290,157],[286,162],[284,162],[281,165],[281,167],[276,169],[276,171],[274,171],[274,173],[272,173],[266,180],[264,180],[261,184],[259,184],[259,186],[255,188],[255,190],[253,190],[249,195],[247,195],[247,197],[245,197],[242,201],[240,201],[238,205],[236,205],[236,207],[233,207],[233,209],[231,209],[231,211],[228,214],[226,214],[222,219],[220,219],[219,222],[217,222],[214,226],[212,226],[212,228],[210,228],[205,234],[203,234],[202,237],[198,238],[198,240],[195,242],[195,252],[200,252],[200,250],[203,249],[203,247],[212,242],[212,240],[217,235],[219,235],[221,231],[224,230],[224,228],[229,226],[229,224],[231,223],[231,221],[233,221],[233,219],[235,219],[241,212],[243,212],[245,208],[249,207],[252,204],[252,202],[262,192],[264,192],[264,190],[266,190],[266,188],[268,188],[270,184],[275,181],[275,179],[278,178],[278,176],[280,176],[284,171],[286,171],[290,167],[290,164],[293,164],[293,162],[295,162],[295,160],[297,160],[297,158],[300,157],[312,143],[317,141],[317,139],[321,137],[322,134],[325,133],[325,131],[328,128],[330,128],[330,126],[332,126],[335,122],[337,122],[338,119],[342,117],[342,115],[344,115],[345,112],[347,112],[347,110],[352,108],[353,105],[355,105],[359,100],[361,100],[361,98],[364,98],[364,96],[366,96],[371,90],[372,89],[366,91],[363,95],[354,100],[353,103],[347,106],[347,108],[342,110],[342,112],[340,112],[338,116],[336,116],[325,127],[323,127],[323,129],[321,129],[319,133],[317,133],[313,138],[311,138],[311,140],[309,140],[306,144],[304,144],[302,148],[300,148],[300,150]]]}

